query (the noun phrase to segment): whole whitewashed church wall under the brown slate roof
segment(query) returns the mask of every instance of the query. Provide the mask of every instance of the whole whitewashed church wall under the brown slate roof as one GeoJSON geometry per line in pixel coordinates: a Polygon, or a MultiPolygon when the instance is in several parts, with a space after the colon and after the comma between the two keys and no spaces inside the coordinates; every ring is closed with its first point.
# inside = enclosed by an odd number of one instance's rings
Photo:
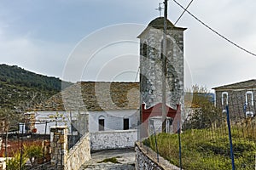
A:
{"type": "MultiPolygon", "coordinates": [[[[36,116],[36,128],[38,130],[37,133],[45,133],[45,123],[48,122],[46,127],[46,133],[49,134],[49,127],[55,126],[55,118],[49,118],[49,116],[55,116],[58,112],[59,115],[63,115],[64,121],[61,122],[61,118],[57,119],[57,125],[67,125],[68,132],[71,129],[71,118],[70,111],[37,111],[35,112],[36,116]],[[42,124],[39,124],[42,122],[42,124]]],[[[124,118],[129,118],[129,129],[136,129],[138,122],[138,110],[121,110],[121,111],[71,111],[72,120],[78,119],[78,113],[80,114],[89,114],[89,132],[94,133],[99,130],[98,120],[100,116],[105,118],[105,131],[112,130],[123,130],[124,127],[124,118]]],[[[22,131],[22,127],[20,126],[20,133],[22,131]]],[[[25,131],[24,131],[25,132],[25,131]]]]}

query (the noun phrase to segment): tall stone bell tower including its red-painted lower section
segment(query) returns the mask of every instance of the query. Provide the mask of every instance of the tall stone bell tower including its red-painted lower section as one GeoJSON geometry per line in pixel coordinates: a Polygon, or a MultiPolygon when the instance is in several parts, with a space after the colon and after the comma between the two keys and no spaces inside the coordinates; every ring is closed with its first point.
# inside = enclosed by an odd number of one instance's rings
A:
{"type": "Polygon", "coordinates": [[[181,124],[184,108],[183,31],[186,28],[174,26],[170,20],[166,20],[165,34],[164,21],[164,17],[152,20],[138,36],[140,39],[141,138],[148,136],[152,125],[155,131],[161,131],[163,108],[160,105],[163,103],[163,95],[166,100],[166,116],[169,120],[166,122],[167,132],[176,133],[181,124]],[[164,44],[166,44],[166,51],[164,44]],[[162,64],[163,60],[166,60],[165,65],[162,64]]]}

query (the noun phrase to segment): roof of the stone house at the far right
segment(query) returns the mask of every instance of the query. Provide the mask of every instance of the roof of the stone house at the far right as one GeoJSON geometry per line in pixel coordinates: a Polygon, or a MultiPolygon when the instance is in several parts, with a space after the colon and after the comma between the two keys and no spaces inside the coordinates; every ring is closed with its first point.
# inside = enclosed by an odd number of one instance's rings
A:
{"type": "Polygon", "coordinates": [[[236,82],[236,83],[219,86],[212,89],[223,90],[223,89],[250,89],[250,88],[256,88],[256,79],[247,80],[245,82],[236,82]]]}

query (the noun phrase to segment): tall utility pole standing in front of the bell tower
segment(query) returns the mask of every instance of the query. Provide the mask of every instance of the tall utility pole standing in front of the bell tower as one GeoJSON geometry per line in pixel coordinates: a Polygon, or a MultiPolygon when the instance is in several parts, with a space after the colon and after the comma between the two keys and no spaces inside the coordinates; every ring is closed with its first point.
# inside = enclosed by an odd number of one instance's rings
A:
{"type": "Polygon", "coordinates": [[[168,0],[165,0],[165,14],[164,14],[164,39],[163,39],[163,59],[162,59],[162,133],[166,133],[166,59],[167,59],[167,50],[166,50],[166,33],[167,33],[167,7],[168,0]]]}

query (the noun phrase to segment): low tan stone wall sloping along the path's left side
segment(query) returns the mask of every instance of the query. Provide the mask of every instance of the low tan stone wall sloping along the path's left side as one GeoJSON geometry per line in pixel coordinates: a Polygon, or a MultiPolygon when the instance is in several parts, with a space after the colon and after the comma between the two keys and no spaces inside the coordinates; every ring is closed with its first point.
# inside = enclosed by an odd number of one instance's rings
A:
{"type": "Polygon", "coordinates": [[[85,161],[90,160],[90,137],[89,133],[85,134],[80,141],[68,151],[66,170],[79,169],[85,161]]]}

